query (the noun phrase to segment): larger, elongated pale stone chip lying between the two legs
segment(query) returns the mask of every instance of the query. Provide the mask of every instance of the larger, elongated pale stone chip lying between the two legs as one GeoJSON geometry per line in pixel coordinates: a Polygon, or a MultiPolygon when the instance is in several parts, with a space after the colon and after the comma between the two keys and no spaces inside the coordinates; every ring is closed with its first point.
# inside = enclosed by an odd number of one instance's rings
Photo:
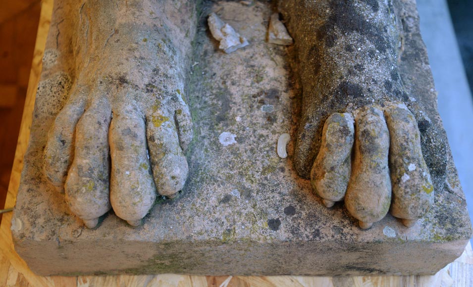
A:
{"type": "Polygon", "coordinates": [[[210,32],[213,38],[220,42],[219,49],[229,54],[238,48],[248,46],[245,37],[240,36],[229,24],[223,22],[215,13],[211,13],[208,19],[210,32]]]}

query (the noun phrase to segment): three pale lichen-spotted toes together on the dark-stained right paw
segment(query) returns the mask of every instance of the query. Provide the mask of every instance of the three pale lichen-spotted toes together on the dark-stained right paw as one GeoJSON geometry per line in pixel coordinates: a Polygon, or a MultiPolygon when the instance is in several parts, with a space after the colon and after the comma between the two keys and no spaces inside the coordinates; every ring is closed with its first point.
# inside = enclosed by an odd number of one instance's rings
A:
{"type": "Polygon", "coordinates": [[[345,200],[363,229],[389,210],[408,227],[425,215],[433,186],[416,119],[404,104],[334,113],[322,133],[311,184],[325,206],[345,200]]]}

